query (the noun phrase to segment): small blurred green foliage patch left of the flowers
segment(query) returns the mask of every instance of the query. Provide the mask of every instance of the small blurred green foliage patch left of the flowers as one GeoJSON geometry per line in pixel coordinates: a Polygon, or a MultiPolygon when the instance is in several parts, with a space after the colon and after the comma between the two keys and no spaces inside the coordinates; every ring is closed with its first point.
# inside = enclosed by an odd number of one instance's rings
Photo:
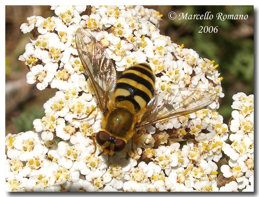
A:
{"type": "Polygon", "coordinates": [[[18,133],[25,131],[34,131],[32,122],[34,121],[34,119],[42,118],[43,116],[45,116],[44,108],[39,108],[38,106],[35,106],[22,112],[19,117],[12,118],[12,122],[16,126],[18,133]]]}

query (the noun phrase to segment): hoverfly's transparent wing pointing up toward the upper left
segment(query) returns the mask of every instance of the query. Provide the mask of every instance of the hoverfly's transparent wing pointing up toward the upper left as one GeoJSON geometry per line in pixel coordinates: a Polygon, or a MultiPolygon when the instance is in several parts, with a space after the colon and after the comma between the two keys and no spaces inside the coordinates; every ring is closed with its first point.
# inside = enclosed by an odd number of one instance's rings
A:
{"type": "Polygon", "coordinates": [[[116,70],[105,48],[90,34],[80,28],[75,34],[76,48],[102,112],[107,108],[109,95],[116,86],[116,70]]]}

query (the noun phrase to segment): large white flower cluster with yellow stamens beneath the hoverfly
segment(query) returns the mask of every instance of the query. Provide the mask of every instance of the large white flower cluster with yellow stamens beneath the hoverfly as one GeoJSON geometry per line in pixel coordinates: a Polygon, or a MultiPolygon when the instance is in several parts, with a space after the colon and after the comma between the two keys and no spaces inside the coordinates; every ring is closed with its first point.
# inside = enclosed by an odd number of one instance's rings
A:
{"type": "MultiPolygon", "coordinates": [[[[30,69],[27,82],[37,82],[39,90],[50,86],[58,91],[43,105],[45,116],[33,121],[35,132],[6,136],[6,190],[218,191],[216,162],[228,139],[228,126],[216,112],[218,98],[224,97],[218,65],[161,35],[162,15],[155,10],[92,6],[86,15],[86,9],[52,6],[57,16],[32,16],[20,26],[34,36],[19,57],[30,69]],[[75,32],[80,27],[92,31],[107,48],[117,71],[148,62],[156,75],[156,94],[199,87],[215,90],[216,101],[198,112],[146,127],[133,150],[127,144],[129,153],[115,153],[109,161],[105,154],[98,156],[100,150],[93,153],[90,136],[101,128],[102,113],[95,108],[96,98],[76,50],[75,32]],[[73,119],[84,118],[93,109],[88,118],[73,119]]],[[[251,139],[251,133],[244,132],[251,139]]]]}

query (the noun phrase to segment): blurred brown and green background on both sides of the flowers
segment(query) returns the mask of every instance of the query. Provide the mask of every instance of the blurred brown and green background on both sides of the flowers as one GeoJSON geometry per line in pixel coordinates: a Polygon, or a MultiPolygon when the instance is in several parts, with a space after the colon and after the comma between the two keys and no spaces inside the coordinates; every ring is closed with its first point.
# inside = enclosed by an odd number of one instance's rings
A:
{"type": "MultiPolygon", "coordinates": [[[[220,99],[219,113],[228,124],[231,117],[232,96],[237,92],[254,94],[254,8],[253,6],[145,6],[163,14],[160,33],[168,35],[177,44],[193,48],[200,57],[215,60],[224,79],[221,81],[225,97],[220,99]],[[168,13],[177,14],[175,20],[168,13]],[[211,11],[212,20],[178,20],[179,13],[205,14],[211,11]],[[248,15],[247,20],[216,20],[217,13],[248,15]],[[218,26],[217,33],[198,33],[200,26],[218,26]]],[[[29,16],[55,16],[50,6],[6,6],[5,21],[5,99],[6,135],[33,130],[32,121],[44,116],[43,103],[57,90],[36,89],[26,83],[29,72],[18,57],[32,35],[23,34],[20,25],[29,16]]]]}

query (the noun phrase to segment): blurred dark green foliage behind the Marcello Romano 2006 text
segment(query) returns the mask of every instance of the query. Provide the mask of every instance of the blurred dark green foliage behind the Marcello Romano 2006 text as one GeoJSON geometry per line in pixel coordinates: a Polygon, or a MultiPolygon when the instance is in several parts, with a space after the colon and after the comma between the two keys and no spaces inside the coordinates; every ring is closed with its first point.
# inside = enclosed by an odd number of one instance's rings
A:
{"type": "Polygon", "coordinates": [[[219,112],[228,121],[231,116],[232,96],[237,92],[253,94],[254,74],[254,38],[250,33],[243,35],[247,28],[253,27],[253,6],[181,6],[172,7],[172,11],[189,15],[205,14],[211,11],[212,20],[170,20],[171,28],[178,30],[178,44],[193,48],[200,57],[215,60],[217,68],[224,79],[222,82],[225,97],[220,99],[219,112]],[[216,20],[216,14],[248,15],[247,20],[216,20]],[[243,26],[242,26],[243,25],[243,26]],[[218,26],[217,33],[198,33],[200,26],[218,26]],[[243,29],[242,29],[243,28],[243,29]],[[237,35],[238,34],[238,35],[237,35]]]}

